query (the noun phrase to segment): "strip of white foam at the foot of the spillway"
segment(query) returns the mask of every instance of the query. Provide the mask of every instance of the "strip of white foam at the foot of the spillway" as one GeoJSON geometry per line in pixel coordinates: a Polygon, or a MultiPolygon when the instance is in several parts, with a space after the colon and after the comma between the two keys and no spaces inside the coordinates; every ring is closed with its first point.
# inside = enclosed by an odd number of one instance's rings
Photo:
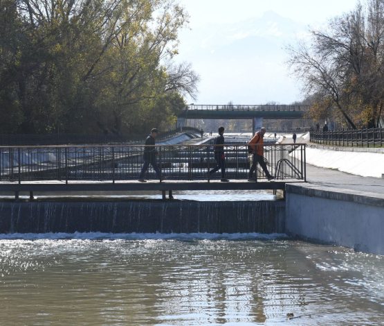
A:
{"type": "Polygon", "coordinates": [[[104,233],[104,232],[75,232],[75,233],[9,233],[0,234],[1,240],[35,240],[35,239],[127,239],[127,240],[166,240],[166,239],[203,239],[203,240],[276,240],[289,239],[284,233],[104,233]]]}

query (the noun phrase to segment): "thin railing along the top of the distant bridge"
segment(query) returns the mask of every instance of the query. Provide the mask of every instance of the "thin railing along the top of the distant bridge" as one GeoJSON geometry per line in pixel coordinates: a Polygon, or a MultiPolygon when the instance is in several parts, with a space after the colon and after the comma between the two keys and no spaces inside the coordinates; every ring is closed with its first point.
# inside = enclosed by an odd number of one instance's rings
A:
{"type": "Polygon", "coordinates": [[[235,105],[235,104],[228,104],[228,105],[212,105],[212,104],[190,104],[187,105],[185,110],[222,110],[222,111],[232,111],[232,110],[239,110],[239,111],[306,111],[308,110],[309,105],[271,105],[271,104],[265,104],[265,105],[235,105]]]}

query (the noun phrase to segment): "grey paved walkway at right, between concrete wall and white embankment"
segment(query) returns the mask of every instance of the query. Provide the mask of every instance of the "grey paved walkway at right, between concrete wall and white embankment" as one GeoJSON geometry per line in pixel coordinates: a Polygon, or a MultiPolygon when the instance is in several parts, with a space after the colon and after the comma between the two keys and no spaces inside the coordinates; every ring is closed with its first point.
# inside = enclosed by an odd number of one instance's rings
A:
{"type": "Polygon", "coordinates": [[[311,164],[307,164],[307,182],[310,185],[384,194],[384,178],[360,177],[311,164]]]}

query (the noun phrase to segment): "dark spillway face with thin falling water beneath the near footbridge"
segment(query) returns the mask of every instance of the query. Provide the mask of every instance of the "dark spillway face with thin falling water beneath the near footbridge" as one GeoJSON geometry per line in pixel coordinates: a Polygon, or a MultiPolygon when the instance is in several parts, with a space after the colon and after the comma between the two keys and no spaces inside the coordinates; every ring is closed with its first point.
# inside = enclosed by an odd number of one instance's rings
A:
{"type": "Polygon", "coordinates": [[[280,200],[0,203],[0,233],[283,233],[284,218],[280,200]]]}

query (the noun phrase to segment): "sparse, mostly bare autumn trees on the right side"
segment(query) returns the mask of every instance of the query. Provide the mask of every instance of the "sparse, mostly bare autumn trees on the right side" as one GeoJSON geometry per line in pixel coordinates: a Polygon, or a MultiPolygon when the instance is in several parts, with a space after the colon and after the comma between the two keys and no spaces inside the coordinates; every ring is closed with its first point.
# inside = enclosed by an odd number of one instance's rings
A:
{"type": "Polygon", "coordinates": [[[332,19],[311,42],[289,46],[289,64],[304,82],[311,117],[349,128],[378,126],[384,105],[384,0],[332,19]]]}

